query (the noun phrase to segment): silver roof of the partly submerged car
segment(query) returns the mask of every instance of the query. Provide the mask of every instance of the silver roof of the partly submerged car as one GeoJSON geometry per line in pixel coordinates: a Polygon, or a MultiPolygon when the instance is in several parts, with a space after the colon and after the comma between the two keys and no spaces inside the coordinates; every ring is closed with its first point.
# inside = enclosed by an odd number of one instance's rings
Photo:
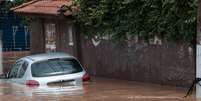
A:
{"type": "Polygon", "coordinates": [[[55,59],[55,58],[75,58],[72,55],[61,53],[61,52],[53,52],[53,53],[42,53],[42,54],[36,54],[36,55],[30,55],[24,57],[26,59],[32,60],[32,61],[41,61],[41,60],[47,60],[47,59],[55,59]]]}

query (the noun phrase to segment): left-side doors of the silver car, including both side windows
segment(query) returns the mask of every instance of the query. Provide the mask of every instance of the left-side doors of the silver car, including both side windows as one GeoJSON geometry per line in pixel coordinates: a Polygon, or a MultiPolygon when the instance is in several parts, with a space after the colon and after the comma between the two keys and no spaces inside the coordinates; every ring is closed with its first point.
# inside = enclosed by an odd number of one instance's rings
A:
{"type": "Polygon", "coordinates": [[[28,67],[28,62],[24,60],[17,61],[11,68],[8,78],[9,81],[15,83],[23,83],[25,81],[24,74],[28,67]]]}

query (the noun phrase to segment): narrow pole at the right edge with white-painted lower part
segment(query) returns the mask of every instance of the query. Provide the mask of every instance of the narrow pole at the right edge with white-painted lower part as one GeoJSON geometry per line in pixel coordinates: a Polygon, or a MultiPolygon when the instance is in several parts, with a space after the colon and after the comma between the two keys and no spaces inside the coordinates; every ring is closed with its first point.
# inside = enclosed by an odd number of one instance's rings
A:
{"type": "MultiPolygon", "coordinates": [[[[196,42],[196,78],[201,78],[201,0],[197,10],[197,42],[196,42]]],[[[196,84],[196,98],[201,99],[201,83],[196,84]]]]}

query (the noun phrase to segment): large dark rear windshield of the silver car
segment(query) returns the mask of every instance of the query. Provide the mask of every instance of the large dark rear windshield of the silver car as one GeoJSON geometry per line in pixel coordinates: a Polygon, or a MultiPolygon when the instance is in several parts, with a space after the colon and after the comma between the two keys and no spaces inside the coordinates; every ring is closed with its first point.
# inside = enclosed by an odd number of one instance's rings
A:
{"type": "Polygon", "coordinates": [[[49,59],[31,65],[33,77],[65,75],[83,71],[75,59],[49,59]]]}

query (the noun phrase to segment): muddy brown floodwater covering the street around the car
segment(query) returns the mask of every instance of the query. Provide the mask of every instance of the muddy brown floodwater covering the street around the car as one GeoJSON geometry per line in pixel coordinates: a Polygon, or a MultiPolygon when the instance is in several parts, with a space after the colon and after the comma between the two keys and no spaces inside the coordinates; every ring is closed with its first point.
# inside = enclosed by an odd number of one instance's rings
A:
{"type": "MultiPolygon", "coordinates": [[[[184,88],[93,78],[83,86],[28,87],[0,81],[0,101],[195,101],[184,88]]],[[[200,100],[201,101],[201,100],[200,100]]]]}

